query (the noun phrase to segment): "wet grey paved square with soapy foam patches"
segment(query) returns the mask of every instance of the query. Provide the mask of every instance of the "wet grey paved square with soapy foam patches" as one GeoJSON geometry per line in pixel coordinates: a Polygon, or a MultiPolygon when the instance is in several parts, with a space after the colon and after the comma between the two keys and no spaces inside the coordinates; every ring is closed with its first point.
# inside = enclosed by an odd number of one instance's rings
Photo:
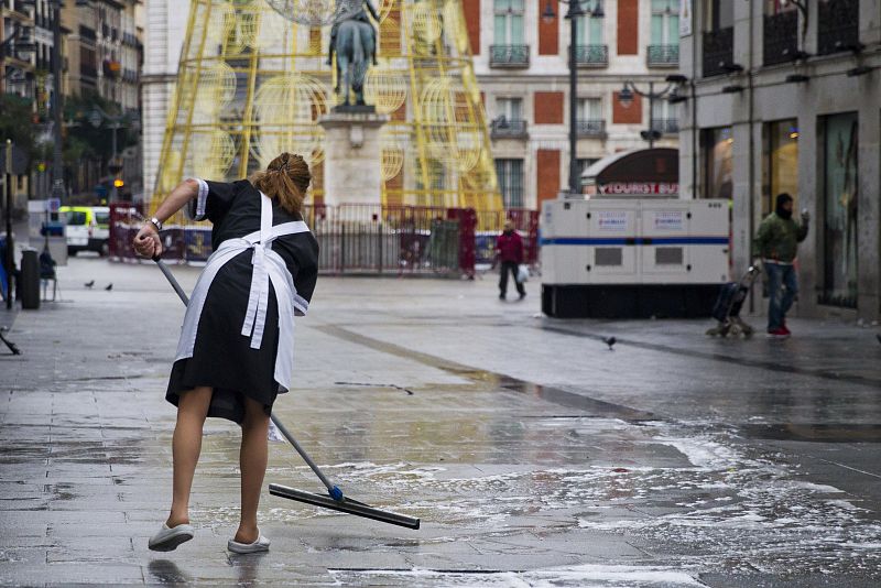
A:
{"type": "MultiPolygon", "coordinates": [[[[197,270],[174,270],[191,288],[197,270]]],[[[24,356],[0,349],[2,584],[881,582],[877,327],[719,340],[706,322],[547,319],[537,283],[502,303],[492,276],[323,277],[276,414],[348,496],[422,529],[265,493],[272,551],[227,553],[239,432],[209,421],[196,538],[159,554],[183,307],[151,264],[77,258],[61,280],[61,302],[14,317],[24,356]]],[[[282,443],[267,482],[320,490],[282,443]]]]}

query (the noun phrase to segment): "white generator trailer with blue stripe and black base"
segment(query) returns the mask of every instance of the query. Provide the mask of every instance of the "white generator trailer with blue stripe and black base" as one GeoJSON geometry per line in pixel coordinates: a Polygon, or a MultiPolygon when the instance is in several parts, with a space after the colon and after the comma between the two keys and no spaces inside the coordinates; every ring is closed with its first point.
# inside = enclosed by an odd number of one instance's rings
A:
{"type": "Polygon", "coordinates": [[[729,281],[728,200],[542,205],[542,311],[554,317],[705,317],[729,281]]]}

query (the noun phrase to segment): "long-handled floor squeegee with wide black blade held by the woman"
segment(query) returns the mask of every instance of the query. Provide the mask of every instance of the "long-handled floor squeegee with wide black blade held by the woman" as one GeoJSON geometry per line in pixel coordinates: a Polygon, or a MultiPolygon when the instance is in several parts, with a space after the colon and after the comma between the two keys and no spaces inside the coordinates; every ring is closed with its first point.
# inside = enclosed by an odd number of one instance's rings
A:
{"type": "MultiPolygon", "coordinates": [[[[156,262],[159,269],[162,270],[162,273],[168,280],[174,291],[183,301],[184,306],[189,304],[189,298],[187,297],[184,288],[181,287],[181,284],[177,283],[177,280],[172,274],[172,271],[168,269],[167,265],[160,259],[153,258],[153,261],[156,262]]],[[[289,488],[286,486],[281,486],[278,483],[269,484],[269,493],[272,496],[286,498],[290,500],[296,500],[298,502],[305,502],[306,504],[312,504],[313,507],[322,507],[325,509],[330,509],[339,512],[345,512],[348,514],[355,514],[358,516],[363,516],[366,519],[372,519],[374,521],[380,521],[383,523],[389,523],[399,526],[405,526],[407,529],[418,529],[420,527],[420,520],[413,516],[406,516],[404,514],[399,514],[396,512],[383,511],[380,509],[374,509],[369,504],[365,504],[363,502],[359,502],[357,500],[352,500],[347,498],[342,494],[342,490],[340,490],[337,486],[334,486],[330,480],[327,479],[327,476],[318,468],[315,461],[308,456],[308,454],[303,449],[303,446],[297,443],[291,432],[287,431],[287,427],[273,414],[271,415],[272,422],[279,428],[281,434],[284,436],[287,442],[294,446],[296,453],[300,454],[300,457],[306,462],[306,465],[315,472],[322,483],[325,484],[327,488],[327,496],[323,494],[314,494],[312,492],[305,492],[303,490],[297,490],[296,488],[289,488]]]]}

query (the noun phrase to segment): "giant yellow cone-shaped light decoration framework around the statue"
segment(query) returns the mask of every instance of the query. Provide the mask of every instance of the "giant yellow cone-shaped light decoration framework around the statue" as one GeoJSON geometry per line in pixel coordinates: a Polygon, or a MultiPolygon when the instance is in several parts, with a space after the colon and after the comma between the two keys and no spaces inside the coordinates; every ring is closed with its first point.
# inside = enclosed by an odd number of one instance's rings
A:
{"type": "MultiPolygon", "coordinates": [[[[390,118],[378,159],[383,205],[500,210],[460,0],[372,2],[379,64],[365,94],[390,118]]],[[[282,151],[324,165],[317,121],[339,101],[326,63],[336,8],[335,0],[191,2],[151,210],[183,178],[246,177],[282,151]],[[300,22],[283,12],[292,2],[300,22]]],[[[313,202],[323,200],[328,173],[315,174],[313,202]]]]}

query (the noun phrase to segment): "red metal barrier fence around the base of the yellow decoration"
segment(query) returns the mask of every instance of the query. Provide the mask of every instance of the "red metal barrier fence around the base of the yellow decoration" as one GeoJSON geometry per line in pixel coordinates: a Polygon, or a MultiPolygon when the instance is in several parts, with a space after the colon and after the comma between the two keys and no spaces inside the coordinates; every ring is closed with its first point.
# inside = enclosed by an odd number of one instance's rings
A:
{"type": "MultiPolygon", "coordinates": [[[[144,220],[140,207],[116,203],[110,215],[110,255],[134,260],[132,239],[144,220]]],[[[318,268],[325,273],[472,276],[477,265],[494,261],[496,239],[507,219],[523,236],[525,262],[537,260],[535,210],[306,205],[303,218],[320,244],[318,268]]],[[[162,258],[171,262],[205,262],[211,253],[209,226],[172,225],[162,239],[162,258]]]]}

